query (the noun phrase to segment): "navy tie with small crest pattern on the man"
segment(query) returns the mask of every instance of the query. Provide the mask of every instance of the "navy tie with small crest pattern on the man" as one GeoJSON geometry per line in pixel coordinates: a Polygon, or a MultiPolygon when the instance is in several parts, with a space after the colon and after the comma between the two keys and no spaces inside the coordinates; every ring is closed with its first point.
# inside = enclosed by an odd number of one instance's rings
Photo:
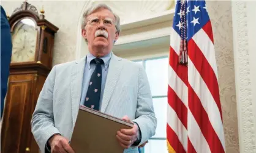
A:
{"type": "Polygon", "coordinates": [[[104,63],[102,59],[96,58],[91,62],[96,63],[94,72],[91,75],[88,90],[85,98],[85,106],[94,110],[99,110],[100,104],[100,91],[102,81],[102,68],[101,64],[104,63]]]}

